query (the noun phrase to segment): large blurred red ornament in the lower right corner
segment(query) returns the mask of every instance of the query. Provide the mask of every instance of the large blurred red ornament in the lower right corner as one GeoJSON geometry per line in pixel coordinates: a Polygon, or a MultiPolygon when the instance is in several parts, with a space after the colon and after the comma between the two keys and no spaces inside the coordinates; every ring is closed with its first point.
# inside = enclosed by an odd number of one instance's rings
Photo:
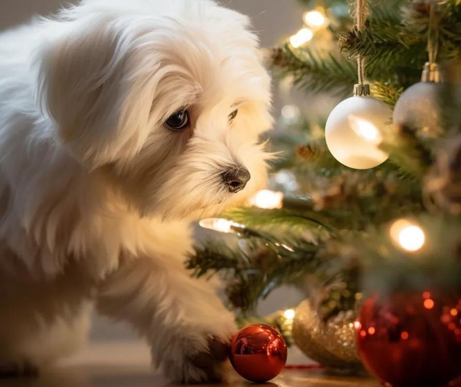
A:
{"type": "Polygon", "coordinates": [[[444,386],[461,376],[460,319],[459,295],[369,297],[355,324],[360,358],[386,386],[444,386]]]}

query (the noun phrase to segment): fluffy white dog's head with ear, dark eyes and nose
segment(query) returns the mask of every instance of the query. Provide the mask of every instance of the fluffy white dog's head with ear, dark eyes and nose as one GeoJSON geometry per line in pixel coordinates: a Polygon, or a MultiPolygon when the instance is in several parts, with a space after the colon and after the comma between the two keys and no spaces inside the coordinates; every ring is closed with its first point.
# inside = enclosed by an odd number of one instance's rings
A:
{"type": "Polygon", "coordinates": [[[247,17],[210,0],[87,0],[53,21],[43,103],[143,214],[198,218],[266,179],[270,79],[247,17]]]}

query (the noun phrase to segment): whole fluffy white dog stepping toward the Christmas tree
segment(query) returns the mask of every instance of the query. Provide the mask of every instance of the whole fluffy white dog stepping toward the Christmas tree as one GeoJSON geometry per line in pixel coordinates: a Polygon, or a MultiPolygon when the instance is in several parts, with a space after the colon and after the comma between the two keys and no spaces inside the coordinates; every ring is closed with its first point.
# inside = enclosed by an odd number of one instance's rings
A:
{"type": "Polygon", "coordinates": [[[0,373],[72,352],[94,301],[169,377],[221,377],[233,316],[184,258],[187,221],[265,184],[248,26],[211,0],[84,0],[0,34],[0,373]]]}

